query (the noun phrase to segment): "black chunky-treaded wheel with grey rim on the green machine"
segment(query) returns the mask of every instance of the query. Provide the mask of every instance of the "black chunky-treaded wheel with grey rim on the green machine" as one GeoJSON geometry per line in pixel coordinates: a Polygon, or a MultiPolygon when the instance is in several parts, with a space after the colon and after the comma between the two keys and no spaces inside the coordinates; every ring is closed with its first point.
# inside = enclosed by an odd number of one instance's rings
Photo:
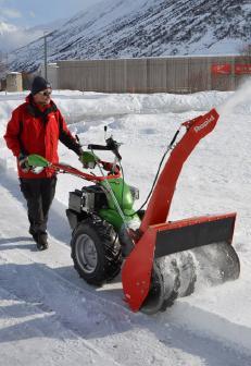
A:
{"type": "Polygon", "coordinates": [[[111,224],[86,219],[73,232],[74,268],[89,284],[101,285],[121,270],[121,245],[111,224]]]}

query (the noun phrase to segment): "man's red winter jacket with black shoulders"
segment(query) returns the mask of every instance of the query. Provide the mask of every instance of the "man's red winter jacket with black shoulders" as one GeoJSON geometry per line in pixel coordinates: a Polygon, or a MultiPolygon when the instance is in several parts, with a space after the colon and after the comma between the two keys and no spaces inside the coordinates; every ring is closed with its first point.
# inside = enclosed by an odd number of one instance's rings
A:
{"type": "MultiPolygon", "coordinates": [[[[79,154],[80,149],[54,102],[51,100],[50,105],[41,109],[34,102],[32,95],[13,111],[4,138],[15,157],[21,152],[38,154],[52,162],[59,161],[59,141],[76,154],[79,154]]],[[[54,171],[49,168],[40,174],[24,173],[18,164],[17,169],[20,178],[38,179],[54,175],[54,171]]]]}

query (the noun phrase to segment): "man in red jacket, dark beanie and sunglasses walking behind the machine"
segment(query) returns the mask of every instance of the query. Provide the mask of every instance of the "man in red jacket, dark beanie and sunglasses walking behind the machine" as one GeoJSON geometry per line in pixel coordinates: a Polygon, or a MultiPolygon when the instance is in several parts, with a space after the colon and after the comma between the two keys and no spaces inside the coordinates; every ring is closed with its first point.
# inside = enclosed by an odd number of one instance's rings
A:
{"type": "Polygon", "coordinates": [[[66,123],[51,100],[51,86],[40,76],[32,84],[26,101],[12,113],[4,135],[7,146],[17,158],[21,191],[27,202],[29,233],[37,248],[48,248],[47,221],[55,193],[55,172],[46,168],[35,174],[27,164],[30,154],[38,154],[49,161],[58,162],[58,143],[81,155],[81,147],[72,136],[66,123]]]}

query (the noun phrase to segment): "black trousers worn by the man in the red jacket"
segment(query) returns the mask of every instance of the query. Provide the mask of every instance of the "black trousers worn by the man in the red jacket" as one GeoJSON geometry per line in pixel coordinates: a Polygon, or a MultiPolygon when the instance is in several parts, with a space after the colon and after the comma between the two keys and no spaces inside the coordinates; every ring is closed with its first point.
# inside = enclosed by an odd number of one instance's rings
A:
{"type": "Polygon", "coordinates": [[[21,191],[27,202],[29,233],[46,233],[48,213],[55,194],[57,178],[21,178],[20,182],[21,191]]]}

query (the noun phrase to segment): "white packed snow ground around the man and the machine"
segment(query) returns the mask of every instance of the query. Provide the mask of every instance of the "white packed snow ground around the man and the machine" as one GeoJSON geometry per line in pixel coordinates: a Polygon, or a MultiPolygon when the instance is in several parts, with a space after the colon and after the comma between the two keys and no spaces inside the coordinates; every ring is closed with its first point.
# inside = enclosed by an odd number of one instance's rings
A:
{"type": "MultiPolygon", "coordinates": [[[[170,219],[237,211],[234,245],[240,279],[178,300],[163,314],[131,313],[120,277],[101,289],[73,268],[65,218],[68,191],[84,181],[59,175],[47,252],[28,235],[15,159],[2,138],[25,94],[0,94],[0,359],[2,365],[251,365],[251,105],[250,85],[234,93],[106,95],[54,91],[53,99],[84,145],[102,144],[103,126],[123,142],[125,179],[145,200],[159,161],[179,124],[216,107],[214,132],[180,175],[170,219]]],[[[61,161],[80,168],[60,146],[61,161]]],[[[105,156],[108,157],[108,156],[105,156]]],[[[110,156],[111,157],[111,156],[110,156]]]]}

